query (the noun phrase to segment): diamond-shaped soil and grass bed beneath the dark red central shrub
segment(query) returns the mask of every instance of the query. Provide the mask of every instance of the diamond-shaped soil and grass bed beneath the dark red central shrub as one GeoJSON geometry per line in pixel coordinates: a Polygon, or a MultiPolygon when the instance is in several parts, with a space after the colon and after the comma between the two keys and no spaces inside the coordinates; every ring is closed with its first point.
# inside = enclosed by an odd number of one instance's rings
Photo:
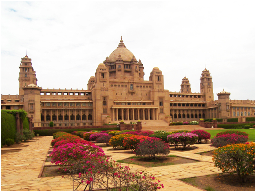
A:
{"type": "Polygon", "coordinates": [[[128,159],[119,160],[117,162],[126,164],[135,164],[143,167],[158,167],[158,166],[168,166],[176,164],[188,164],[196,163],[198,161],[192,159],[186,159],[182,157],[176,157],[174,155],[169,155],[166,157],[156,157],[156,159],[150,159],[149,157],[130,157],[128,159]]]}

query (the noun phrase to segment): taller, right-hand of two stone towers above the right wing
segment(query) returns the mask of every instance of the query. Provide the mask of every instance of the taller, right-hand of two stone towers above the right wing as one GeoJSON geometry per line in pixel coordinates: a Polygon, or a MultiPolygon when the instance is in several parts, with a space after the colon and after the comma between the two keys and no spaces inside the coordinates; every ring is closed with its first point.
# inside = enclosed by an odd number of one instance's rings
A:
{"type": "Polygon", "coordinates": [[[205,101],[213,101],[213,86],[212,76],[210,72],[205,69],[202,71],[200,78],[200,91],[201,94],[205,95],[205,101]]]}

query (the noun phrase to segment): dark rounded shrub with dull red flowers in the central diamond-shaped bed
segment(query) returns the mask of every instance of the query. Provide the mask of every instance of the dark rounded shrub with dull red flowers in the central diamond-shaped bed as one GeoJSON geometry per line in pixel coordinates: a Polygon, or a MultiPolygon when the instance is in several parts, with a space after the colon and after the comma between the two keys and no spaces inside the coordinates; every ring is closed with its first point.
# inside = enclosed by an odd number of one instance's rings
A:
{"type": "Polygon", "coordinates": [[[150,159],[155,159],[156,155],[168,155],[169,153],[168,144],[154,137],[147,137],[145,140],[141,140],[135,151],[136,155],[148,156],[150,159]]]}

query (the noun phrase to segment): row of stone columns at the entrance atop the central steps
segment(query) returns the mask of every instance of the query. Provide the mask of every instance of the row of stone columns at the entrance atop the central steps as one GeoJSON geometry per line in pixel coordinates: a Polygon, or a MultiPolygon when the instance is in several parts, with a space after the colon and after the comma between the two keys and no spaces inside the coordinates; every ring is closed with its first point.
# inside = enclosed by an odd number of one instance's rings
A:
{"type": "Polygon", "coordinates": [[[112,108],[112,120],[158,120],[157,108],[112,108]]]}

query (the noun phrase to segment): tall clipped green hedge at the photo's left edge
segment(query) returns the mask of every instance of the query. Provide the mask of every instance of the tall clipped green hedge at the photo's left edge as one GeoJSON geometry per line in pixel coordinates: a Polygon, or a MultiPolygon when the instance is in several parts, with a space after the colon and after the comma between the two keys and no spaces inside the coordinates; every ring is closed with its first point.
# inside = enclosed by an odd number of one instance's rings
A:
{"type": "Polygon", "coordinates": [[[1,144],[5,144],[6,139],[15,140],[16,119],[15,117],[1,110],[1,144]]]}

